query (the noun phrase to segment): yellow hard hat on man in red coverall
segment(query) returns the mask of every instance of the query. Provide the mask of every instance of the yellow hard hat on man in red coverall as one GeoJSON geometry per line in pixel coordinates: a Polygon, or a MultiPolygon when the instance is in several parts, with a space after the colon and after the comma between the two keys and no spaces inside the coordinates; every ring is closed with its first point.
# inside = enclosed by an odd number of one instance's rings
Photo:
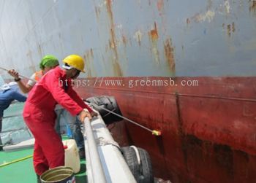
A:
{"type": "Polygon", "coordinates": [[[66,58],[64,58],[63,62],[67,63],[72,68],[85,72],[83,70],[84,69],[83,58],[81,58],[79,55],[68,55],[66,58]]]}

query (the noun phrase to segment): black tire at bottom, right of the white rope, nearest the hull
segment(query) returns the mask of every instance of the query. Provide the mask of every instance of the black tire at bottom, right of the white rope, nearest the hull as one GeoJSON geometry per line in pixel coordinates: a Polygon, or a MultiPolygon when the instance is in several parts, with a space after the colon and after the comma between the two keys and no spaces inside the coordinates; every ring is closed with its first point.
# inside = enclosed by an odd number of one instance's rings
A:
{"type": "Polygon", "coordinates": [[[138,182],[139,183],[153,183],[154,176],[153,176],[153,169],[151,159],[146,152],[145,149],[141,149],[138,147],[138,152],[140,155],[140,177],[138,182]]]}

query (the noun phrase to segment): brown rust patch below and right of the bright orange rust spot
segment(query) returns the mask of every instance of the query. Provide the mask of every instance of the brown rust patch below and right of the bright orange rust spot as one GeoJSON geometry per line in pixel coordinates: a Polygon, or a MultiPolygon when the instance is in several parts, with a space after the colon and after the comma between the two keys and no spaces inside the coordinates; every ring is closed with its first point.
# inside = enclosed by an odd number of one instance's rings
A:
{"type": "Polygon", "coordinates": [[[165,47],[165,58],[169,65],[169,69],[170,71],[175,73],[175,59],[174,59],[174,49],[172,46],[172,40],[167,39],[164,43],[164,47],[165,47]]]}

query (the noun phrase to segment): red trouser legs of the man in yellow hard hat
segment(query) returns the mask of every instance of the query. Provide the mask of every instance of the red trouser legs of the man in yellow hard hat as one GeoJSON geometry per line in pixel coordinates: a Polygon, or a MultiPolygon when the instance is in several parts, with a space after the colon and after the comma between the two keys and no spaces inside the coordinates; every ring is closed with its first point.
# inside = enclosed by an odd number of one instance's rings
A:
{"type": "Polygon", "coordinates": [[[23,114],[26,125],[34,135],[34,170],[41,175],[49,168],[64,166],[64,148],[54,129],[54,119],[44,119],[42,114],[23,114]]]}

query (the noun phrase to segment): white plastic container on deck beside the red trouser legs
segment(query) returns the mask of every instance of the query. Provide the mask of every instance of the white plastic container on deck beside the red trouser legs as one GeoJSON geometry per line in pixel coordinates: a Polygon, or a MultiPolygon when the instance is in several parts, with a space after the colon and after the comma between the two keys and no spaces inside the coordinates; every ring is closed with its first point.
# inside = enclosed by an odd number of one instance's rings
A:
{"type": "Polygon", "coordinates": [[[78,146],[73,139],[63,141],[63,145],[65,149],[65,166],[72,168],[72,170],[76,174],[80,171],[80,157],[78,154],[78,146]]]}

